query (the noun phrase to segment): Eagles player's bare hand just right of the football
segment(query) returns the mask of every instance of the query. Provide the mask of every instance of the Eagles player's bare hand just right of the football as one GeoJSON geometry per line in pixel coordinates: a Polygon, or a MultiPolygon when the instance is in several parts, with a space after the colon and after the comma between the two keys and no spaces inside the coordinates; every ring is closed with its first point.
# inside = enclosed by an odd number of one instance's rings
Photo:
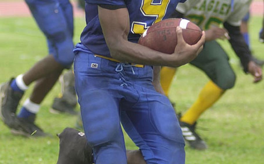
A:
{"type": "Polygon", "coordinates": [[[226,29],[219,27],[212,27],[209,30],[205,31],[206,41],[216,40],[216,39],[230,39],[229,34],[226,29]]]}

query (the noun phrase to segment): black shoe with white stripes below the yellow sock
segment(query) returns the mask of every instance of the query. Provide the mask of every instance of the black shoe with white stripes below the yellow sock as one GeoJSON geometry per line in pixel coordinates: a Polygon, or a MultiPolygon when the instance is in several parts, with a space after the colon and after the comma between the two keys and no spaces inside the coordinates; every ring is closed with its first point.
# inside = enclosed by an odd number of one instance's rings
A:
{"type": "Polygon", "coordinates": [[[180,127],[182,129],[182,135],[189,143],[191,148],[198,149],[198,150],[205,150],[207,149],[207,145],[205,141],[201,139],[201,137],[195,132],[196,122],[193,125],[187,124],[186,122],[181,122],[180,127]]]}

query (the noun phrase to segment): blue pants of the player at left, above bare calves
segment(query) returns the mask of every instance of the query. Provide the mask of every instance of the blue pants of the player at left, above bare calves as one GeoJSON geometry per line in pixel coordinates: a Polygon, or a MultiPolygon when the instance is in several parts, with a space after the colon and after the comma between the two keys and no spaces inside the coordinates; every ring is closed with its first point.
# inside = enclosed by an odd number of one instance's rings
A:
{"type": "Polygon", "coordinates": [[[50,55],[70,68],[73,63],[73,8],[69,0],[25,0],[45,34],[50,55]]]}

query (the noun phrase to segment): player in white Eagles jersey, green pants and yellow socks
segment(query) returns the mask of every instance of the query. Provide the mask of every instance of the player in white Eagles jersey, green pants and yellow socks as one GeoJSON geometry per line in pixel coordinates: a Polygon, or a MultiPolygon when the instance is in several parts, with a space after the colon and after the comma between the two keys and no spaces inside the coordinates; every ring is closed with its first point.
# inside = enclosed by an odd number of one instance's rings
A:
{"type": "MultiPolygon", "coordinates": [[[[179,4],[172,17],[188,18],[206,31],[206,42],[202,52],[190,64],[204,71],[210,81],[200,92],[197,100],[179,115],[182,132],[191,148],[206,149],[206,143],[195,132],[196,121],[200,115],[235,84],[235,73],[228,56],[216,39],[229,39],[229,43],[240,58],[245,73],[254,77],[254,82],[262,79],[262,70],[252,59],[251,52],[240,32],[241,19],[248,12],[250,0],[202,1],[187,0],[179,4]],[[220,28],[223,25],[224,28],[220,28]],[[229,34],[228,34],[229,33],[229,34]]],[[[175,68],[164,67],[161,70],[161,84],[168,95],[169,85],[175,68]]]]}

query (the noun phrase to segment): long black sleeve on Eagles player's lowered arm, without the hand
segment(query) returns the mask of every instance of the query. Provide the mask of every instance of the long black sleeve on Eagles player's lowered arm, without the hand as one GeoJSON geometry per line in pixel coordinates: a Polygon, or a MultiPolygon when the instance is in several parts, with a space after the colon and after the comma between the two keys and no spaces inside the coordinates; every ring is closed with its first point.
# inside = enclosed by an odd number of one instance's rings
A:
{"type": "Polygon", "coordinates": [[[224,27],[229,32],[229,42],[234,49],[236,55],[240,58],[241,64],[243,65],[244,71],[248,72],[249,61],[252,60],[252,54],[243,38],[242,33],[240,32],[240,27],[235,27],[227,22],[224,23],[224,27]]]}

